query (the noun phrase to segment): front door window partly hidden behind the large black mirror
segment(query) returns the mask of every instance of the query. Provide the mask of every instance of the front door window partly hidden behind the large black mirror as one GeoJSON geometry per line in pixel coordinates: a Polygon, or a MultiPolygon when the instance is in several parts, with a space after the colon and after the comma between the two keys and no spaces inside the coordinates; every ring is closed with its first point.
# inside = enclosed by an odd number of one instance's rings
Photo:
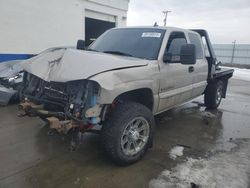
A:
{"type": "Polygon", "coordinates": [[[165,53],[171,56],[172,62],[180,62],[180,52],[183,44],[187,44],[184,33],[173,32],[170,34],[165,53]]]}

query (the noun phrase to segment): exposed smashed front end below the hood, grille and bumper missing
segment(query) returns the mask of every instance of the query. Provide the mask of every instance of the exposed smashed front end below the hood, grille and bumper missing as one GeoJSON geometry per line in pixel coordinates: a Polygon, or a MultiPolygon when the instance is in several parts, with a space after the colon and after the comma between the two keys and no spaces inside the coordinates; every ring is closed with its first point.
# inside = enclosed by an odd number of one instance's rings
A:
{"type": "Polygon", "coordinates": [[[38,116],[62,134],[72,128],[85,132],[102,121],[105,108],[97,104],[99,93],[94,81],[47,82],[25,72],[20,115],[38,116]]]}

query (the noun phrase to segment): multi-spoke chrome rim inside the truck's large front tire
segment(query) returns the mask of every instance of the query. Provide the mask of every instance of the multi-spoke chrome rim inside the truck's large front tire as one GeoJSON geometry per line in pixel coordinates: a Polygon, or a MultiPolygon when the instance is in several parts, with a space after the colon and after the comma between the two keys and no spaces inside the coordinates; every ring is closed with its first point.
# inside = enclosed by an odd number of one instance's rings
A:
{"type": "Polygon", "coordinates": [[[125,155],[133,156],[146,145],[150,125],[144,117],[135,117],[125,127],[121,137],[121,148],[125,155]]]}

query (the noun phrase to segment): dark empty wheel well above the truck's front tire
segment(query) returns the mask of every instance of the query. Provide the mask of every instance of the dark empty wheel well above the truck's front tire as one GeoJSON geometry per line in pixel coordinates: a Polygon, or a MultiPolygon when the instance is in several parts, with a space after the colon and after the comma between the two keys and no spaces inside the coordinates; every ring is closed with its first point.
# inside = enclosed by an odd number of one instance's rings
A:
{"type": "Polygon", "coordinates": [[[153,104],[154,104],[153,92],[151,89],[148,88],[136,89],[125,92],[116,97],[114,101],[137,102],[148,107],[151,111],[153,110],[153,104]]]}

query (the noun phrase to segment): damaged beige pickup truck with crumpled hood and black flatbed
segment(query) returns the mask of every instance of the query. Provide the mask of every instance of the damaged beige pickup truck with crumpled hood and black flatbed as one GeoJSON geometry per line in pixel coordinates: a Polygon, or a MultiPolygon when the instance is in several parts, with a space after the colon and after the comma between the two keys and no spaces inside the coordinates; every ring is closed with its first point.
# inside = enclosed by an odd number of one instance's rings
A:
{"type": "Polygon", "coordinates": [[[216,109],[233,75],[219,68],[205,30],[172,27],[111,29],[86,50],[53,49],[22,67],[24,115],[65,134],[101,125],[102,148],[122,165],[152,146],[154,115],[203,94],[216,109]]]}

